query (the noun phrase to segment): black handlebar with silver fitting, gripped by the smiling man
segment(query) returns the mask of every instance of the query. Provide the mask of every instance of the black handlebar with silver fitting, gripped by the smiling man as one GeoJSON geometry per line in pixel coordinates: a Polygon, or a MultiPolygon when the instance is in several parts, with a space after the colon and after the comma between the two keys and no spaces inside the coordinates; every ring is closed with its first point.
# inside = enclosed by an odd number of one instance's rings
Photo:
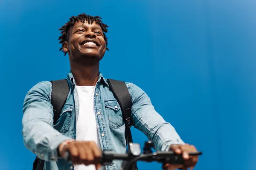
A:
{"type": "MultiPolygon", "coordinates": [[[[169,163],[169,164],[183,164],[184,159],[181,154],[176,154],[173,151],[156,151],[152,152],[151,148],[153,143],[151,141],[145,142],[143,153],[141,153],[140,144],[130,143],[128,151],[125,154],[118,154],[111,150],[104,150],[102,152],[102,165],[109,165],[113,160],[122,160],[122,169],[123,170],[134,170],[134,164],[137,161],[152,162],[156,161],[158,163],[169,163]]],[[[202,152],[193,152],[189,155],[202,155],[202,152]]],[[[66,160],[69,159],[69,154],[66,153],[66,160]]]]}

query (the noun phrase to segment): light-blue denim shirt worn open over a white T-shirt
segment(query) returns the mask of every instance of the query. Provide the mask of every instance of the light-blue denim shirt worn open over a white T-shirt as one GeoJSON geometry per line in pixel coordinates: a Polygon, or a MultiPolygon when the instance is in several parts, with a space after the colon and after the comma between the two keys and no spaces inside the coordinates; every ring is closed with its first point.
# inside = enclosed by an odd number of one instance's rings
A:
{"type": "MultiPolygon", "coordinates": [[[[25,146],[40,159],[45,160],[45,170],[73,170],[72,162],[58,157],[57,147],[69,139],[76,139],[79,98],[76,82],[67,75],[70,91],[59,119],[53,122],[51,82],[39,82],[26,94],[23,104],[22,135],[25,146]]],[[[156,150],[168,150],[169,145],[184,144],[175,128],[158,114],[150,98],[133,83],[125,83],[131,95],[131,119],[135,128],[154,143],[156,150]]],[[[125,123],[120,106],[110,91],[108,80],[102,74],[96,83],[94,109],[102,150],[125,153],[125,123]],[[116,107],[117,106],[117,107],[116,107]]],[[[113,161],[106,170],[121,170],[122,161],[113,161]]]]}

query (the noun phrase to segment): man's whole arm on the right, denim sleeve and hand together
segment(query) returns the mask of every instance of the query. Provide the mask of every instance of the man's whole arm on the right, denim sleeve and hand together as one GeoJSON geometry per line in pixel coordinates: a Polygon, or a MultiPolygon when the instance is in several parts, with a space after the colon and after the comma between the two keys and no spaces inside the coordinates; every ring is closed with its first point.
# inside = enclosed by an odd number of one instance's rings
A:
{"type": "Polygon", "coordinates": [[[147,94],[134,84],[128,85],[133,103],[131,117],[134,127],[142,131],[149,140],[154,143],[156,150],[173,150],[177,154],[182,154],[184,164],[173,165],[163,164],[163,169],[175,170],[182,168],[187,170],[194,168],[198,162],[198,156],[189,156],[189,152],[196,152],[197,149],[190,144],[185,144],[172,125],[164,121],[151,104],[147,94]]]}

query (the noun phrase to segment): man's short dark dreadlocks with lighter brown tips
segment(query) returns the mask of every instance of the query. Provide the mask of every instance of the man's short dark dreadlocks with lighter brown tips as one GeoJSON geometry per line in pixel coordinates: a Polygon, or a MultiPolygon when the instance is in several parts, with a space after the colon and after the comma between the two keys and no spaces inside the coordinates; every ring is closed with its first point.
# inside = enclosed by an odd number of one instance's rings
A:
{"type": "MultiPolygon", "coordinates": [[[[62,26],[61,28],[59,28],[59,31],[61,31],[61,36],[58,38],[59,43],[63,44],[63,42],[67,41],[69,39],[69,36],[70,36],[70,28],[72,28],[74,26],[74,24],[76,22],[79,22],[81,21],[82,23],[84,23],[85,21],[87,21],[88,24],[92,24],[93,22],[95,22],[96,24],[98,24],[101,28],[102,28],[102,31],[103,31],[103,36],[104,36],[104,40],[106,42],[106,50],[109,51],[109,49],[107,48],[108,46],[108,38],[106,37],[106,34],[108,32],[108,26],[104,23],[102,23],[102,18],[99,17],[99,16],[91,16],[91,15],[87,15],[87,14],[79,14],[78,16],[72,16],[70,17],[70,20],[65,23],[64,26],[62,26]]],[[[60,48],[60,51],[62,50],[63,51],[63,48],[61,47],[60,48]]],[[[64,52],[64,55],[66,55],[67,52],[64,52]]]]}

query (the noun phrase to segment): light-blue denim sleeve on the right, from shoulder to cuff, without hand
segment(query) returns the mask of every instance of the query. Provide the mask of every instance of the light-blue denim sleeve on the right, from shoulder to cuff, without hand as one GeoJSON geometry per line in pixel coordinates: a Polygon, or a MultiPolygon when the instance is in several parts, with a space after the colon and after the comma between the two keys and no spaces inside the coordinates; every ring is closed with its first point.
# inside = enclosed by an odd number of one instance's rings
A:
{"type": "Polygon", "coordinates": [[[148,95],[133,83],[128,85],[132,100],[132,121],[154,143],[156,150],[169,150],[170,145],[184,144],[172,125],[151,104],[148,95]],[[129,88],[130,87],[130,88],[129,88]]]}

